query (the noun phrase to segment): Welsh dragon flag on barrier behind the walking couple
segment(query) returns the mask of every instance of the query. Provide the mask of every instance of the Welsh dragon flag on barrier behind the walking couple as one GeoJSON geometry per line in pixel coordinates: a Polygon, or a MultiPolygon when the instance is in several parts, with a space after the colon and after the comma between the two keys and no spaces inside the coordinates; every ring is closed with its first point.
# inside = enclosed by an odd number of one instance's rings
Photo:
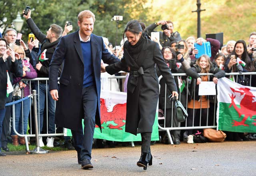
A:
{"type": "MultiPolygon", "coordinates": [[[[140,134],[135,136],[125,132],[126,96],[126,92],[101,90],[100,116],[102,133],[100,133],[100,128],[96,125],[94,129],[95,139],[120,142],[141,141],[140,134]]],[[[83,121],[82,124],[84,124],[83,121]]],[[[64,129],[64,136],[72,136],[70,129],[64,129]]],[[[158,140],[158,113],[156,113],[151,141],[158,140]]]]}

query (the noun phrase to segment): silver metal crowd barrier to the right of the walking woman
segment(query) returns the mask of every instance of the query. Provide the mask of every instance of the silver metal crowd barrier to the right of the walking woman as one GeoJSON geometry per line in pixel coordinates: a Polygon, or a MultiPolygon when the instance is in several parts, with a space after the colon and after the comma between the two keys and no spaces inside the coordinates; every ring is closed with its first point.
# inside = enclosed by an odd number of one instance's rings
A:
{"type": "MultiPolygon", "coordinates": [[[[181,76],[187,76],[185,73],[172,74],[172,75],[174,77],[180,77],[180,78],[181,78],[181,76]]],[[[208,73],[208,74],[200,73],[199,75],[201,75],[201,76],[209,75],[210,76],[210,75],[213,75],[213,74],[211,74],[211,73],[208,73]]],[[[243,75],[243,76],[250,75],[250,86],[252,84],[252,81],[256,81],[256,80],[252,80],[252,75],[256,75],[256,72],[226,73],[226,76],[231,76],[231,75],[243,75]]],[[[160,81],[161,79],[162,79],[162,76],[159,76],[158,80],[160,81]]],[[[237,78],[236,78],[236,82],[237,82],[237,78]]],[[[195,84],[196,84],[196,82],[195,82],[195,84]]],[[[195,86],[194,86],[194,88],[195,88],[195,86]]],[[[187,105],[188,104],[188,82],[186,84],[186,92],[187,92],[186,93],[186,105],[187,105]]],[[[195,92],[195,90],[194,90],[194,92],[195,92]]],[[[179,123],[178,127],[174,127],[173,126],[173,118],[174,118],[173,117],[173,113],[172,113],[172,117],[171,117],[171,126],[170,127],[166,126],[166,118],[165,118],[165,116],[166,116],[166,111],[165,111],[165,109],[166,109],[166,101],[170,101],[170,100],[167,99],[167,96],[169,96],[169,95],[166,94],[166,84],[165,84],[165,105],[164,105],[165,108],[163,110],[164,111],[164,117],[159,117],[158,118],[158,128],[159,128],[159,131],[166,131],[168,139],[169,139],[169,142],[171,143],[171,145],[173,145],[172,137],[171,137],[171,134],[170,134],[170,131],[172,131],[172,130],[205,129],[205,128],[216,128],[217,127],[217,124],[216,124],[216,113],[215,113],[216,109],[217,109],[217,98],[216,98],[216,95],[215,95],[215,98],[214,98],[214,108],[212,109],[214,111],[214,119],[213,119],[213,121],[212,122],[208,121],[209,120],[209,109],[210,109],[210,108],[208,108],[208,110],[207,110],[207,119],[206,119],[206,124],[207,125],[206,126],[202,126],[202,125],[194,126],[195,114],[194,114],[194,110],[193,110],[193,126],[192,127],[188,127],[187,126],[187,120],[184,122],[185,126],[181,126],[181,124],[179,123]],[[161,121],[164,121],[164,122],[161,123],[161,121]],[[213,125],[208,125],[209,123],[212,123],[213,125]]],[[[179,95],[178,99],[180,100],[180,98],[181,98],[181,95],[179,95]]],[[[201,109],[202,108],[200,108],[200,122],[199,122],[200,124],[201,124],[201,117],[202,117],[201,116],[202,115],[201,114],[201,109]]],[[[188,110],[187,106],[186,106],[186,110],[188,110]]],[[[180,135],[181,135],[181,137],[183,137],[183,134],[180,134],[180,135]]]]}

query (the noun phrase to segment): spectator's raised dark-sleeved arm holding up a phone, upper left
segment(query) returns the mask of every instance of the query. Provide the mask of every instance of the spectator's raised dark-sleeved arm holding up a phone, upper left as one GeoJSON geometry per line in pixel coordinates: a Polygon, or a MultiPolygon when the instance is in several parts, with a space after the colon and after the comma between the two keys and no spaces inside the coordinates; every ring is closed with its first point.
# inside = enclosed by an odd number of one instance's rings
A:
{"type": "Polygon", "coordinates": [[[44,35],[40,31],[40,29],[37,27],[37,25],[32,20],[32,18],[31,18],[31,10],[29,10],[27,15],[23,15],[23,16],[26,18],[26,22],[28,23],[28,27],[31,29],[32,33],[42,43],[44,41],[44,39],[46,38],[46,35],[44,35]]]}

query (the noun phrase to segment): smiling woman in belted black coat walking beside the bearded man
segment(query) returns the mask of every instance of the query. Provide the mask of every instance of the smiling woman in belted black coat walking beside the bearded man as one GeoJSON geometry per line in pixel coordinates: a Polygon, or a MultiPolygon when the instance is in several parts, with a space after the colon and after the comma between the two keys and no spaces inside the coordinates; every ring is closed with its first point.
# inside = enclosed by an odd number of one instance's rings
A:
{"type": "Polygon", "coordinates": [[[144,23],[137,20],[127,23],[124,33],[128,41],[124,43],[124,56],[120,62],[106,66],[106,71],[114,74],[120,70],[130,70],[125,131],[134,135],[141,134],[141,156],[137,165],[146,170],[147,164],[152,164],[150,141],[159,95],[155,65],[160,69],[172,97],[178,97],[178,92],[158,44],[143,33],[144,29],[144,23]]]}

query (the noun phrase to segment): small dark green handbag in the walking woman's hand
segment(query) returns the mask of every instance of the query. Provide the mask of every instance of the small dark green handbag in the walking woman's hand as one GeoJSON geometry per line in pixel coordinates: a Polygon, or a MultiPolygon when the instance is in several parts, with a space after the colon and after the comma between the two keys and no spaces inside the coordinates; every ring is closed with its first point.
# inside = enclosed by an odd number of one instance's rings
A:
{"type": "Polygon", "coordinates": [[[170,95],[168,98],[170,98],[170,101],[174,103],[174,112],[178,122],[185,121],[186,118],[188,117],[188,112],[185,110],[182,103],[179,100],[177,100],[176,96],[172,97],[172,95],[170,95]]]}

